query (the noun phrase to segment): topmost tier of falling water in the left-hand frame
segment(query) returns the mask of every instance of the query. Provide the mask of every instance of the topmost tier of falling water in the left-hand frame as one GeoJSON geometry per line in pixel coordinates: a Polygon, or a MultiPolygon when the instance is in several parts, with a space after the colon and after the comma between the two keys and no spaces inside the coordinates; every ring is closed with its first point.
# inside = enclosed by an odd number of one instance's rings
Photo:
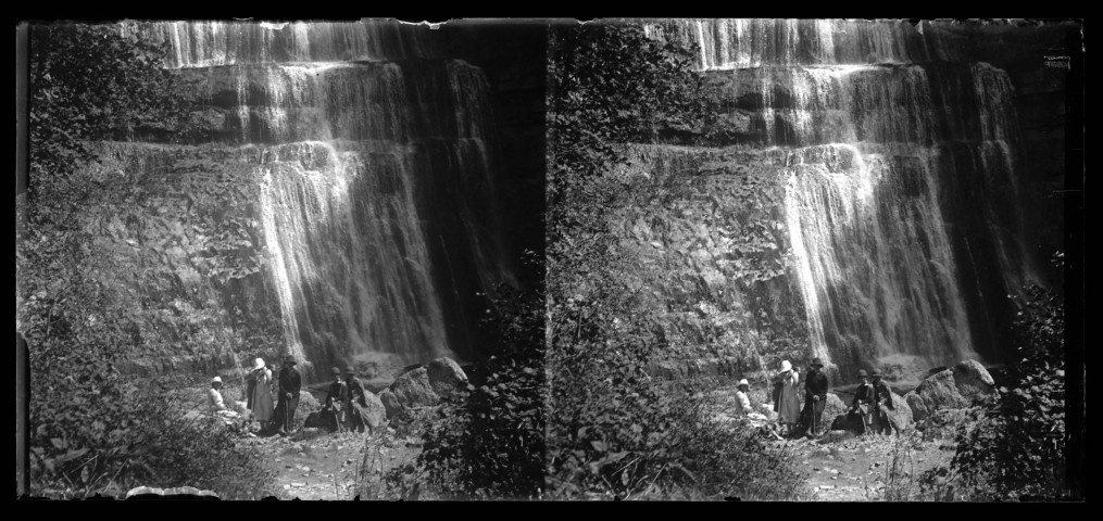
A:
{"type": "Polygon", "coordinates": [[[432,58],[439,44],[417,25],[394,20],[360,22],[152,22],[124,31],[170,45],[165,65],[353,62],[432,58]]]}

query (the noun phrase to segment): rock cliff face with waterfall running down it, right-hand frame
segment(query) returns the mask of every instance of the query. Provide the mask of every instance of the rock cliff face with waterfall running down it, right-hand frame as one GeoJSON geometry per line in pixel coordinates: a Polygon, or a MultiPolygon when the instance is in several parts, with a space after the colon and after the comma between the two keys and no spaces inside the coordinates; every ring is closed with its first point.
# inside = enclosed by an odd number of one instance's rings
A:
{"type": "Polygon", "coordinates": [[[717,121],[632,145],[618,175],[684,189],[652,222],[624,222],[623,240],[674,268],[655,276],[673,322],[731,332],[706,340],[711,356],[815,356],[836,383],[892,356],[999,360],[1008,295],[1053,279],[1045,236],[1060,213],[1043,187],[1064,175],[1064,85],[1045,56],[1075,31],[650,23],[698,45],[717,121]]]}

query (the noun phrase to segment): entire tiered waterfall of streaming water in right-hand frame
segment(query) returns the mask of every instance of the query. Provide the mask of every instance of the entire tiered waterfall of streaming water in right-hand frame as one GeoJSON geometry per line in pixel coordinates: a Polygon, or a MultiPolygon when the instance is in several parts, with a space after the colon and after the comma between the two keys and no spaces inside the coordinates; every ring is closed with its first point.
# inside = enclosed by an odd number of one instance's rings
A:
{"type": "Polygon", "coordinates": [[[785,158],[810,356],[850,369],[992,354],[990,334],[973,327],[987,311],[970,237],[1008,292],[1031,276],[1003,70],[970,63],[960,39],[927,22],[678,20],[646,32],[696,44],[720,110],[749,121],[739,144],[785,158]]]}

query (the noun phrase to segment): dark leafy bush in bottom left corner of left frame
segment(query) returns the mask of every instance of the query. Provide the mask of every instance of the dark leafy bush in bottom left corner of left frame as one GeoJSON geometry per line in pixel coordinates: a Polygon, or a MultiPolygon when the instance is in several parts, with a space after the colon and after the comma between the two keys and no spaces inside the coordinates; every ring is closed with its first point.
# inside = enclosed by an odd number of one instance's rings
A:
{"type": "Polygon", "coordinates": [[[81,366],[50,371],[52,384],[31,409],[39,492],[117,496],[137,486],[191,486],[224,499],[276,493],[261,455],[236,446],[237,426],[189,413],[160,382],[144,389],[122,383],[94,352],[66,361],[81,366]]]}

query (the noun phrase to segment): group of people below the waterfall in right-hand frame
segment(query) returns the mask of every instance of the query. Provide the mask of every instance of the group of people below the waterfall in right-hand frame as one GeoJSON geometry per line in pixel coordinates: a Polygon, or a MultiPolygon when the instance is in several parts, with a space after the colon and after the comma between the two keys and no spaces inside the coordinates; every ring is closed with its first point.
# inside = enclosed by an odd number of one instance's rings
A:
{"type": "MultiPolygon", "coordinates": [[[[781,435],[792,437],[800,431],[805,431],[807,437],[818,437],[824,434],[823,413],[827,405],[827,375],[823,372],[823,362],[813,358],[808,363],[808,373],[804,379],[804,406],[801,408],[801,375],[789,360],[782,360],[781,370],[772,378],[773,412],[778,413],[778,425],[781,435]]],[[[849,413],[861,416],[866,433],[891,434],[888,411],[893,410],[891,390],[881,381],[880,372],[874,372],[872,382],[865,370],[858,371],[861,383],[854,395],[849,413]]],[[[736,392],[737,411],[752,424],[764,424],[767,417],[756,412],[751,406],[747,392],[750,383],[742,379],[736,392]]]]}

